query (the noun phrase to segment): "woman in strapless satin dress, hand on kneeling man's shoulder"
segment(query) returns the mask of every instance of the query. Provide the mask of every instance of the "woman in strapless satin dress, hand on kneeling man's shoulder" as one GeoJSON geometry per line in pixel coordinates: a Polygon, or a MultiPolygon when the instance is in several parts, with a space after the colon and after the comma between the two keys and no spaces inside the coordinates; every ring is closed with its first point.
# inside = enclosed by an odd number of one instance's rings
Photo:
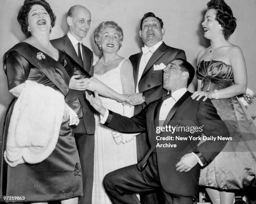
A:
{"type": "Polygon", "coordinates": [[[246,91],[246,64],[241,49],[227,38],[236,28],[236,18],[223,0],[211,0],[202,22],[210,46],[198,53],[198,88],[193,99],[212,99],[227,124],[232,141],[201,171],[200,185],[212,204],[233,204],[234,192],[251,185],[256,172],[256,127],[236,97],[246,91]]]}

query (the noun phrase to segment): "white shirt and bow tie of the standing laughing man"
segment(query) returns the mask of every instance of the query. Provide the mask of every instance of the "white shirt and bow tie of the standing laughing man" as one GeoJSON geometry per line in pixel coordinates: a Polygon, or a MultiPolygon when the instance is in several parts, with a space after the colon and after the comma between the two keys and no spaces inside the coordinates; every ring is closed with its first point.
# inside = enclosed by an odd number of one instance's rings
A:
{"type": "MultiPolygon", "coordinates": [[[[139,65],[139,70],[138,70],[138,80],[137,80],[137,84],[136,84],[136,93],[139,93],[138,91],[138,83],[141,80],[141,76],[142,73],[149,61],[149,59],[151,58],[151,56],[153,55],[153,53],[157,50],[157,48],[159,48],[159,46],[163,43],[163,41],[159,41],[158,43],[156,43],[154,46],[150,47],[151,50],[153,51],[149,51],[146,54],[142,54],[141,56],[141,61],[140,61],[140,65],[139,65]]],[[[146,45],[144,45],[145,48],[148,48],[146,45]]]]}

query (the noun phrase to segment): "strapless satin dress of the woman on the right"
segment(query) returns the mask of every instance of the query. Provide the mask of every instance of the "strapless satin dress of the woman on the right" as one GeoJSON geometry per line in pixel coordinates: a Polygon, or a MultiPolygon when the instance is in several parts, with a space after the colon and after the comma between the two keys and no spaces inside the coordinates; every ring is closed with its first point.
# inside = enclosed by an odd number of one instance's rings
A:
{"type": "MultiPolygon", "coordinates": [[[[196,70],[201,91],[221,90],[234,83],[231,65],[202,60],[196,70]]],[[[211,100],[233,141],[200,174],[200,185],[237,190],[252,185],[256,172],[256,127],[237,97],[211,100]]]]}

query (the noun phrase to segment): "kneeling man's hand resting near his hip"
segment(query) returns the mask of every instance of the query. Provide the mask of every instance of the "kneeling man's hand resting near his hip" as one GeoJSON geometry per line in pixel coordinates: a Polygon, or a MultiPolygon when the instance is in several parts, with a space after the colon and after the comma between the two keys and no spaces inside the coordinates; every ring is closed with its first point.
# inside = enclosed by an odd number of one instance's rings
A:
{"type": "Polygon", "coordinates": [[[177,171],[188,172],[197,164],[197,157],[193,153],[185,154],[180,161],[176,164],[177,171]]]}

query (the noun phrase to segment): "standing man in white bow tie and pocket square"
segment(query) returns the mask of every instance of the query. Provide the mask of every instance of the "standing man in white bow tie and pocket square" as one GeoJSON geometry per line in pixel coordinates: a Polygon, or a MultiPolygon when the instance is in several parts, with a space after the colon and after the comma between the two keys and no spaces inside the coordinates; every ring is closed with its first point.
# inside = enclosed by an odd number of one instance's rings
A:
{"type": "MultiPolygon", "coordinates": [[[[147,104],[155,101],[166,93],[163,88],[162,71],[170,61],[183,58],[186,59],[183,50],[172,48],[163,42],[165,33],[164,23],[154,13],[146,13],[141,19],[141,30],[139,36],[144,44],[142,52],[130,56],[133,65],[133,77],[136,93],[130,96],[134,107],[134,115],[139,113],[147,104]]],[[[148,150],[149,141],[146,133],[136,137],[138,162],[141,161],[148,150]]],[[[162,203],[156,194],[141,195],[144,204],[162,203]],[[159,200],[159,201],[157,201],[159,200]]]]}

